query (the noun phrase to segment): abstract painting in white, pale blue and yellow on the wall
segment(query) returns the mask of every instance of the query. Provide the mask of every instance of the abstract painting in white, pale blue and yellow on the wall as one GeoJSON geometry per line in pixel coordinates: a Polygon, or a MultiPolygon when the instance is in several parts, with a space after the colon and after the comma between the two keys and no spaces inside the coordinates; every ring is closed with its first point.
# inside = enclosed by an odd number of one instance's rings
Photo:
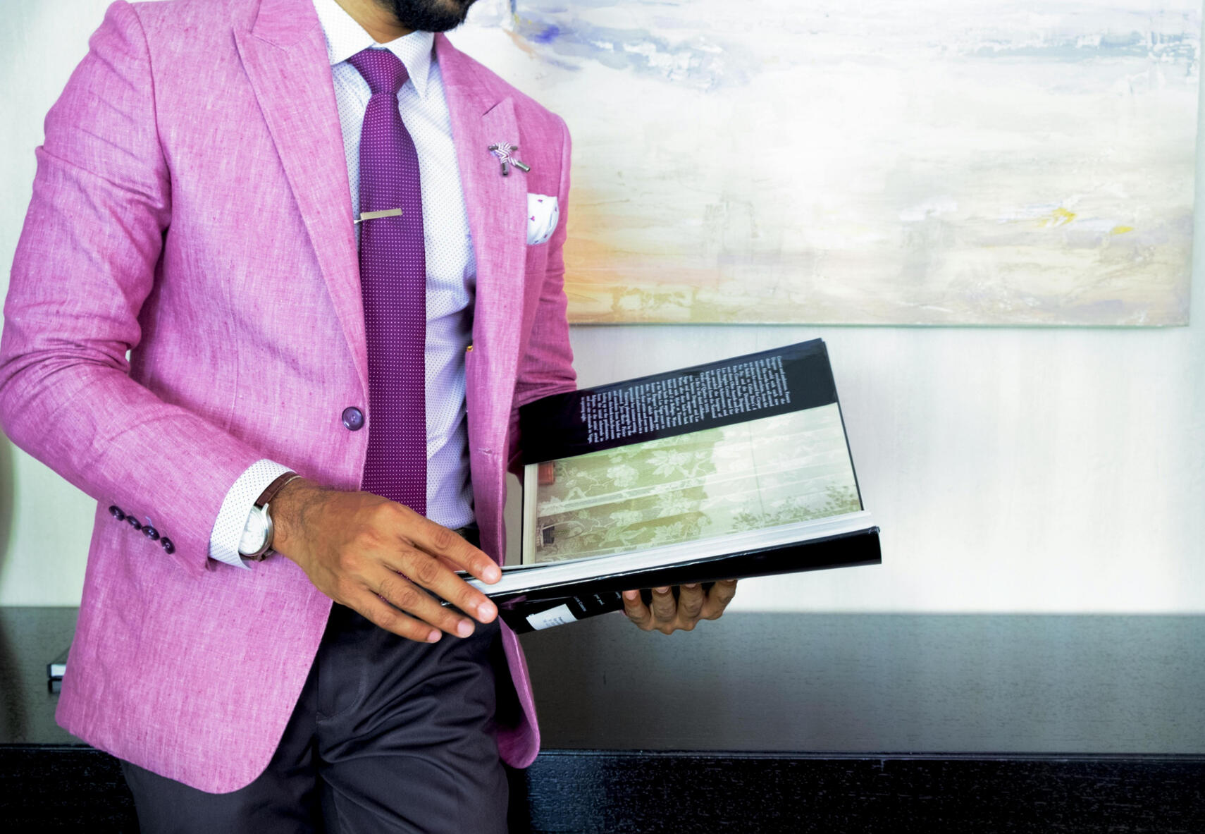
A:
{"type": "MultiPolygon", "coordinates": [[[[480,0],[575,322],[1188,317],[1200,0],[480,0]]],[[[522,154],[519,154],[522,157],[522,154]]]]}

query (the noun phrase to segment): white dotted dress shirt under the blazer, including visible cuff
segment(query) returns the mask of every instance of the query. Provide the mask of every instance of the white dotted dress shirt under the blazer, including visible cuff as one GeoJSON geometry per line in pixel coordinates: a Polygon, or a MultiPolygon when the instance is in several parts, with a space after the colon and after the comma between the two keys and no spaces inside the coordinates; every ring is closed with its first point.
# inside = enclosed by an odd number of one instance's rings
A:
{"type": "MultiPolygon", "coordinates": [[[[389,49],[410,80],[398,92],[401,121],[415,140],[423,186],[427,252],[427,516],[452,529],[472,522],[469,439],[464,405],[464,352],[472,337],[476,263],[464,207],[460,169],[443,80],[434,60],[435,36],[416,31],[376,43],[335,0],[313,0],[327,36],[335,104],[343,131],[352,215],[359,215],[360,128],[369,84],[347,59],[370,47],[389,49]]],[[[357,228],[357,239],[359,229],[357,228]]],[[[210,557],[246,566],[239,540],[255,499],[288,466],[252,464],[230,487],[210,536],[210,557]]]]}

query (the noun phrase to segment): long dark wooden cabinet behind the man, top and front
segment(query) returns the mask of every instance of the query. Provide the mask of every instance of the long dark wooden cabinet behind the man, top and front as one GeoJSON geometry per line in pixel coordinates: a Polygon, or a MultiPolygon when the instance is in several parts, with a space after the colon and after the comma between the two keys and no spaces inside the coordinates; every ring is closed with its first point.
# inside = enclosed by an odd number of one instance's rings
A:
{"type": "MultiPolygon", "coordinates": [[[[0,818],[130,832],[54,724],[74,609],[0,609],[0,818]]],[[[733,612],[524,638],[545,752],[522,832],[1205,830],[1205,617],[733,612]]]]}

